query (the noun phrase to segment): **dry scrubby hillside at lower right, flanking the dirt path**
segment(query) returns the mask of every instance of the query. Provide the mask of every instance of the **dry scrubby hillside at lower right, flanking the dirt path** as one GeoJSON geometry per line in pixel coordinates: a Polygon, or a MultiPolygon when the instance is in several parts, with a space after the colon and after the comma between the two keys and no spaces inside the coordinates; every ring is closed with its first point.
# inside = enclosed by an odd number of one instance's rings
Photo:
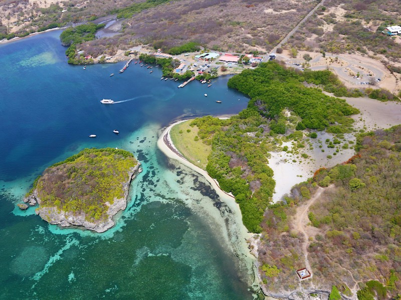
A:
{"type": "Polygon", "coordinates": [[[360,134],[356,150],[348,161],[317,170],[267,210],[259,259],[281,270],[280,280],[264,277],[270,290],[292,290],[294,269],[305,265],[297,207],[319,185],[328,187],[308,211],[316,228],[307,255],[320,288],[335,284],[330,298],[338,298],[337,288],[352,296],[350,288],[358,284],[359,300],[387,299],[401,290],[401,125],[360,134]]]}

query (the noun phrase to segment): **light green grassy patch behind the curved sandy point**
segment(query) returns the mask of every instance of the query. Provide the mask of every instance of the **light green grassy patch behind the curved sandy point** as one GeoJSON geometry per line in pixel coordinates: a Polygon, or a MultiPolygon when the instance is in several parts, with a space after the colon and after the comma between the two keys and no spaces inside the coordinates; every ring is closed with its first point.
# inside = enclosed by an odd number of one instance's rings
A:
{"type": "Polygon", "coordinates": [[[189,126],[191,120],[176,124],[170,130],[172,142],[186,159],[194,165],[206,169],[208,156],[212,146],[203,142],[202,139],[195,141],[199,129],[197,126],[189,126]],[[190,130],[187,132],[187,130],[190,130]]]}

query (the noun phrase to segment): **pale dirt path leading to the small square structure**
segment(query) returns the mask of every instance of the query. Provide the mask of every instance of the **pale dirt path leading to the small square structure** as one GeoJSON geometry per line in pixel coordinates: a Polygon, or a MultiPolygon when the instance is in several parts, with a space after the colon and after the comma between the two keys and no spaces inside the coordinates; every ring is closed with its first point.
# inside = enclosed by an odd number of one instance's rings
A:
{"type": "Polygon", "coordinates": [[[297,208],[297,212],[294,215],[294,226],[295,230],[301,232],[304,235],[304,242],[302,243],[302,251],[305,256],[305,266],[312,273],[312,268],[308,260],[308,247],[309,247],[309,234],[306,232],[306,226],[309,223],[308,211],[309,207],[316,202],[320,197],[321,193],[325,190],[319,186],[319,189],[315,192],[312,198],[297,208]]]}

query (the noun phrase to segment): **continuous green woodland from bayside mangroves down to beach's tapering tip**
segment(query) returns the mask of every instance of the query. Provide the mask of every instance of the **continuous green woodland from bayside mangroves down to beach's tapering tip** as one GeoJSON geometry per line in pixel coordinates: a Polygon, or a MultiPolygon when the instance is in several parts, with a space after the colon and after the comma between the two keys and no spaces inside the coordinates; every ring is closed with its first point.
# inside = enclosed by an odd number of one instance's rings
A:
{"type": "MultiPolygon", "coordinates": [[[[317,84],[325,82],[321,77],[327,75],[326,71],[310,74],[308,80],[319,79],[317,84]]],[[[332,80],[337,78],[334,76],[332,80]]],[[[194,142],[182,145],[183,139],[174,140],[178,149],[191,147],[195,142],[212,146],[206,170],[223,190],[233,193],[249,231],[262,231],[263,215],[273,195],[275,181],[267,163],[269,151],[281,144],[278,134],[298,140],[301,147],[304,134],[300,130],[349,132],[353,122],[349,115],[359,112],[342,99],[306,87],[304,81],[301,72],[276,62],[245,70],[230,78],[229,86],[251,97],[248,108],[229,119],[196,118],[190,122],[190,126],[197,127],[194,142]]],[[[185,132],[178,134],[185,135],[185,132]]]]}

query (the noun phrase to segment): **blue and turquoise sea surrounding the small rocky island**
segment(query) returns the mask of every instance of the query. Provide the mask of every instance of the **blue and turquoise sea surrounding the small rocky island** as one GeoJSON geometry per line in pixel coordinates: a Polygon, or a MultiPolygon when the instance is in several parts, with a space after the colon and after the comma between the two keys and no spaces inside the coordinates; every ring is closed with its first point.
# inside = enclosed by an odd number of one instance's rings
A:
{"type": "Polygon", "coordinates": [[[237,113],[248,99],[227,88],[227,77],[178,89],[158,68],[132,64],[119,74],[123,62],[68,65],[59,34],[0,46],[0,299],[252,298],[245,258],[217,229],[232,211],[156,146],[171,120],[237,113]],[[115,227],[61,229],[34,208],[16,208],[46,166],[92,146],[125,148],[143,164],[115,227]]]}

